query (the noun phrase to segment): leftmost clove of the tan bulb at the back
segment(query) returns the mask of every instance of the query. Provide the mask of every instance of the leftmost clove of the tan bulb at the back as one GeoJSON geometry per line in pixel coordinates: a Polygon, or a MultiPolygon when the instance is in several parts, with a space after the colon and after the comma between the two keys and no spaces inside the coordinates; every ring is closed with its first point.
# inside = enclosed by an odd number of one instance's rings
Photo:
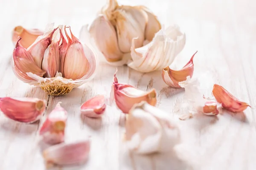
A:
{"type": "Polygon", "coordinates": [[[123,54],[119,50],[115,28],[103,15],[93,21],[89,31],[107,61],[122,60],[123,54]]]}

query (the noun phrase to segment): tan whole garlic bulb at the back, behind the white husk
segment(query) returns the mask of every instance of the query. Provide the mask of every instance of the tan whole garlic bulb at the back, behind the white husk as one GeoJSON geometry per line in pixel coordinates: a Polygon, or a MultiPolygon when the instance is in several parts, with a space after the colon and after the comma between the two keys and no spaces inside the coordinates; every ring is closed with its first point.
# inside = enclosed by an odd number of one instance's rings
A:
{"type": "Polygon", "coordinates": [[[108,0],[90,26],[90,34],[110,64],[123,65],[131,59],[133,38],[137,37],[134,46],[139,48],[160,29],[157,17],[146,7],[119,6],[116,0],[108,0]]]}

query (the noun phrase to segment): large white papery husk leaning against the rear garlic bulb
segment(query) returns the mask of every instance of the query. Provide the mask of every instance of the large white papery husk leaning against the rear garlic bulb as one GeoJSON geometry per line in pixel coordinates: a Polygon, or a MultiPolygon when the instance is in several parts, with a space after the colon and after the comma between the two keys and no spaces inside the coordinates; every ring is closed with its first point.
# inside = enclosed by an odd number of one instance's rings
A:
{"type": "Polygon", "coordinates": [[[131,58],[128,66],[134,70],[147,73],[162,70],[171,65],[177,54],[182,51],[186,42],[185,33],[177,25],[162,28],[147,45],[136,48],[132,40],[131,58]]]}

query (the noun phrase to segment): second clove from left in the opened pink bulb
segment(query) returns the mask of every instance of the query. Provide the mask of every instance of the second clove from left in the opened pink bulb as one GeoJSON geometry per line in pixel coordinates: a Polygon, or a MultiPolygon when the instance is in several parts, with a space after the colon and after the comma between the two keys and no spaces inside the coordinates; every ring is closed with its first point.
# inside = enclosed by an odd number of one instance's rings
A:
{"type": "Polygon", "coordinates": [[[27,48],[29,53],[32,55],[35,64],[39,67],[42,68],[42,61],[44,57],[44,52],[51,44],[52,42],[52,36],[54,32],[58,28],[52,29],[52,28],[47,28],[47,31],[45,31],[44,35],[39,36],[35,42],[27,48]]]}

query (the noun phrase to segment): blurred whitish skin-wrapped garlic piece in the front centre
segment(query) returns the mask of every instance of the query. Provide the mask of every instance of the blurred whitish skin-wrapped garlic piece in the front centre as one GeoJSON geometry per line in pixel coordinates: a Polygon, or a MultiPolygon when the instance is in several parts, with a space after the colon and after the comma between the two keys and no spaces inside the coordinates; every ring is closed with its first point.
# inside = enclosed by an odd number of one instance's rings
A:
{"type": "Polygon", "coordinates": [[[168,113],[141,102],[126,116],[125,140],[136,153],[163,153],[180,142],[180,130],[168,113]]]}

